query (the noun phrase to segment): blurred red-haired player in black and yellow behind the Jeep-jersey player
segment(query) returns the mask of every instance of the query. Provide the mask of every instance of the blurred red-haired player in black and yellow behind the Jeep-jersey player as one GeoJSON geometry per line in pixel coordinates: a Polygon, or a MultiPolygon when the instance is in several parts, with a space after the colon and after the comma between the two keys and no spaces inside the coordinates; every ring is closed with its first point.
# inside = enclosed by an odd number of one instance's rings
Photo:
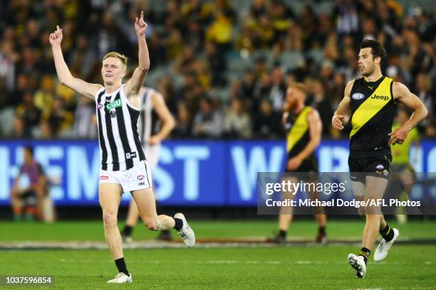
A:
{"type": "MultiPolygon", "coordinates": [[[[286,151],[288,159],[285,172],[304,172],[310,176],[310,173],[318,172],[315,150],[321,142],[323,127],[318,111],[305,105],[306,97],[306,88],[301,83],[295,83],[286,90],[283,123],[287,132],[286,151]]],[[[291,182],[299,182],[295,177],[290,178],[291,182]]],[[[294,196],[292,193],[283,192],[282,200],[293,199],[294,196]]],[[[318,198],[315,193],[308,193],[308,196],[312,200],[318,198]]],[[[327,241],[326,215],[321,214],[323,208],[314,208],[313,210],[316,222],[318,222],[316,242],[325,243],[327,241]]],[[[281,243],[286,241],[286,232],[292,218],[292,208],[282,207],[279,215],[279,233],[273,239],[273,242],[281,243]]]]}

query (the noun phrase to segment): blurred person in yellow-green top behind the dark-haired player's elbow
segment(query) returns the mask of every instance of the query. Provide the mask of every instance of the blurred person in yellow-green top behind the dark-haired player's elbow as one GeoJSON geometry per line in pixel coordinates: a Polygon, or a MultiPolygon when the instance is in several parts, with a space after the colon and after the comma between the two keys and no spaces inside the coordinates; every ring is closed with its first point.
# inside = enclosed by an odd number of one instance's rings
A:
{"type": "MultiPolygon", "coordinates": [[[[392,126],[392,131],[402,127],[405,122],[410,119],[410,112],[405,107],[400,106],[398,108],[398,114],[395,122],[392,126]]],[[[394,186],[397,181],[400,181],[401,190],[400,194],[396,195],[396,198],[400,200],[407,200],[410,196],[410,190],[412,183],[415,181],[414,170],[409,160],[410,149],[414,145],[414,149],[418,150],[420,146],[420,132],[416,127],[409,131],[407,138],[403,141],[403,144],[397,144],[392,146],[392,163],[391,168],[393,174],[390,178],[389,185],[394,186]]],[[[416,154],[412,154],[416,156],[416,154]]],[[[404,224],[408,220],[408,216],[405,214],[404,207],[398,207],[395,213],[395,218],[400,224],[404,224]]]]}

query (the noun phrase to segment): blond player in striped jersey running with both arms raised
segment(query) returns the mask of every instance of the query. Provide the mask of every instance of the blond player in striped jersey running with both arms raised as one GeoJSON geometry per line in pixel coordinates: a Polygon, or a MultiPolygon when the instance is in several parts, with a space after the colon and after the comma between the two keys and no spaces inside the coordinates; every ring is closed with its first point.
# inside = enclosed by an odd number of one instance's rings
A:
{"type": "Polygon", "coordinates": [[[71,75],[63,60],[62,29],[59,26],[49,39],[61,83],[96,102],[101,156],[98,194],[103,210],[105,239],[119,272],[108,283],[132,281],[132,275],[128,272],[123,258],[123,243],[117,225],[121,194],[125,191],[132,193],[140,216],[150,230],[175,228],[188,247],[193,247],[195,243],[194,232],[181,213],[177,213],[175,218],[157,215],[150,165],[145,160],[137,131],[140,114],[138,93],[150,68],[145,42],[146,30],[147,23],[144,21],[144,13],[141,12],[140,18],[135,19],[139,66],[130,80],[123,84],[127,58],[120,53],[108,53],[103,58],[101,69],[104,86],[90,84],[71,75]]]}

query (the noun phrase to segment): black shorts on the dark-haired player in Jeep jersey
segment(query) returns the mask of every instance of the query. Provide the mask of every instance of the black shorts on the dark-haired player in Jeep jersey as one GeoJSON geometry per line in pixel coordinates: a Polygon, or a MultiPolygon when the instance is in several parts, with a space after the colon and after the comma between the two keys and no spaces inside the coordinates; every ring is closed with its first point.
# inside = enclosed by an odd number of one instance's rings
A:
{"type": "Polygon", "coordinates": [[[351,181],[365,183],[366,176],[388,179],[391,161],[390,147],[376,151],[350,151],[348,167],[350,168],[351,181]]]}

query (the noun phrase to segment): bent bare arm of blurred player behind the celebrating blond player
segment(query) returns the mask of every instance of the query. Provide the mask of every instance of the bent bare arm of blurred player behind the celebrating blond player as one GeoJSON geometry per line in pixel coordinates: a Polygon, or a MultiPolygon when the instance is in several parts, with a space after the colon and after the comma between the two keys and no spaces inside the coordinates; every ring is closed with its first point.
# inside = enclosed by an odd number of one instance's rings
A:
{"type": "Polygon", "coordinates": [[[175,127],[175,119],[172,117],[167,104],[165,104],[165,99],[160,92],[154,92],[151,95],[151,98],[152,107],[156,110],[157,115],[162,120],[160,131],[157,134],[150,136],[150,139],[148,139],[148,144],[155,145],[159,144],[163,139],[170,135],[172,129],[175,127]]]}

